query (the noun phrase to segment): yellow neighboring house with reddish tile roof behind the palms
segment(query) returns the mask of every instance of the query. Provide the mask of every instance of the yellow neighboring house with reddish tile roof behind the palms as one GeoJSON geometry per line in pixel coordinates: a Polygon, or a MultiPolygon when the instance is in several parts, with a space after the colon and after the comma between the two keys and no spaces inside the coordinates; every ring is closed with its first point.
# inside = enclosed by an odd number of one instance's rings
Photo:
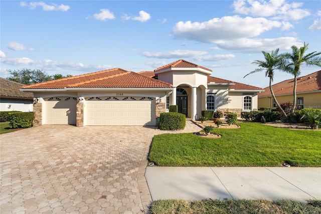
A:
{"type": "MultiPolygon", "coordinates": [[[[293,103],[294,79],[284,80],[272,85],[274,95],[279,103],[293,103]]],[[[258,106],[276,108],[270,88],[258,95],[258,106]]],[[[321,70],[304,77],[297,77],[296,83],[296,104],[300,108],[321,109],[321,70]]]]}

